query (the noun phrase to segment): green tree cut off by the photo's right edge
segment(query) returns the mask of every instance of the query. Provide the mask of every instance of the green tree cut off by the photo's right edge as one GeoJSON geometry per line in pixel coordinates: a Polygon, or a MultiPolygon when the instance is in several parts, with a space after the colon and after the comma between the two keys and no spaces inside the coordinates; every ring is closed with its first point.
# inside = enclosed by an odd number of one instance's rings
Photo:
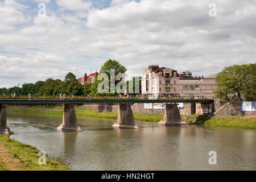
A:
{"type": "Polygon", "coordinates": [[[248,74],[246,76],[246,84],[242,90],[246,100],[256,101],[256,64],[249,64],[248,74]]]}

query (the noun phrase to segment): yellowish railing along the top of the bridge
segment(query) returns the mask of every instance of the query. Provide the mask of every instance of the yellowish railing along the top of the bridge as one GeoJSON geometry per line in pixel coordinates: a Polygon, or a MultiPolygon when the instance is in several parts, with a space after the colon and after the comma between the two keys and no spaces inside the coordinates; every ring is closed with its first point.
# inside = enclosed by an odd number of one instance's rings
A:
{"type": "MultiPolygon", "coordinates": [[[[0,96],[0,99],[11,99],[11,100],[71,100],[72,96],[0,96]]],[[[213,97],[148,97],[148,96],[73,96],[73,100],[148,100],[148,99],[157,99],[157,100],[212,100],[213,97]]]]}

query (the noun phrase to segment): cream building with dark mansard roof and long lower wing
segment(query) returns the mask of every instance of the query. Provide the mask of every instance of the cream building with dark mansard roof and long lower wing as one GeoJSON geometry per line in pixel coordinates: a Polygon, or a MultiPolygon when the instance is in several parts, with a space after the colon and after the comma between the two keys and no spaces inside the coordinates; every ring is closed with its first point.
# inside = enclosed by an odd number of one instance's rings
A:
{"type": "Polygon", "coordinates": [[[141,78],[142,94],[146,96],[214,97],[217,74],[206,77],[192,77],[186,72],[180,76],[176,70],[150,65],[141,78]]]}

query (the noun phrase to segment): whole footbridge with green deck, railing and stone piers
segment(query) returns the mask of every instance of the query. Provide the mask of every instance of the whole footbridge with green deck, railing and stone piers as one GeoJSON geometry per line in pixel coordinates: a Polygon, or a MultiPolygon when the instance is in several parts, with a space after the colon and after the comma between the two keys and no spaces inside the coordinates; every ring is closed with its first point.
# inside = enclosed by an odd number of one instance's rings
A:
{"type": "MultiPolygon", "coordinates": [[[[82,131],[77,123],[75,105],[84,104],[118,104],[118,118],[113,127],[138,129],[135,124],[133,111],[131,105],[137,103],[162,103],[166,104],[163,120],[159,122],[160,126],[185,126],[187,123],[183,122],[177,103],[195,103],[200,106],[202,110],[208,110],[212,107],[213,98],[192,98],[192,97],[115,97],[115,96],[94,96],[90,98],[60,98],[55,96],[19,96],[18,98],[9,96],[0,96],[0,134],[13,134],[7,127],[6,107],[8,105],[64,105],[63,121],[57,127],[58,131],[82,131]]],[[[202,111],[204,114],[204,112],[202,111]]]]}

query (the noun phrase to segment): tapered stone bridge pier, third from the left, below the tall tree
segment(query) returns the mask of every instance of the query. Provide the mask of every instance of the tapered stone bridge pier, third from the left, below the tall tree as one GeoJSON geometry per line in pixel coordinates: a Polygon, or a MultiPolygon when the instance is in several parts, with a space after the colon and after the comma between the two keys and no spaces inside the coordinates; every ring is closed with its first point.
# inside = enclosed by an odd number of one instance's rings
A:
{"type": "Polygon", "coordinates": [[[137,125],[135,125],[133,111],[131,110],[131,105],[119,104],[117,122],[114,123],[113,127],[123,127],[123,128],[130,128],[130,129],[139,128],[137,125]]]}

